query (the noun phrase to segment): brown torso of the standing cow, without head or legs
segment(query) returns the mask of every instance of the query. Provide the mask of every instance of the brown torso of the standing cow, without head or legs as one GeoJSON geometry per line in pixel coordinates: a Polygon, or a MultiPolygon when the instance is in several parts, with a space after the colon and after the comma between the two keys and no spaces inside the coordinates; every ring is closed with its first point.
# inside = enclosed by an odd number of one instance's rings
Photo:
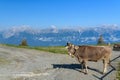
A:
{"type": "Polygon", "coordinates": [[[110,57],[111,48],[109,46],[79,46],[76,54],[82,59],[98,61],[110,57]]]}

